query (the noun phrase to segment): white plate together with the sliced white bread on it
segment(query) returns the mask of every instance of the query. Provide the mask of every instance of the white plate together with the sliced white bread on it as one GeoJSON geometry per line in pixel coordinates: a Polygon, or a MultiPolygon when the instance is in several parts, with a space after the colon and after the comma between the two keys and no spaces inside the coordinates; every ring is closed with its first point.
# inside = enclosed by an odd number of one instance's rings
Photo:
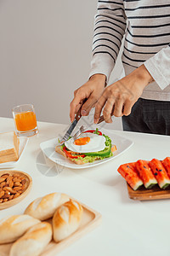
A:
{"type": "Polygon", "coordinates": [[[27,137],[17,137],[14,131],[0,133],[0,169],[13,168],[26,148],[27,137]]]}

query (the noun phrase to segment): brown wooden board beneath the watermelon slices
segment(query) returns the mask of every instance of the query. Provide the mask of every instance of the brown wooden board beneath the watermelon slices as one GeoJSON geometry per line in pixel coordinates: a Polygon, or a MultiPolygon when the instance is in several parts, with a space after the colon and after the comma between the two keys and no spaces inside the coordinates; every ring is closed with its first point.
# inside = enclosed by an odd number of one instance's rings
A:
{"type": "Polygon", "coordinates": [[[170,188],[160,189],[158,185],[152,189],[145,189],[144,186],[134,191],[127,184],[128,196],[133,200],[160,200],[160,199],[170,199],[170,188]]]}

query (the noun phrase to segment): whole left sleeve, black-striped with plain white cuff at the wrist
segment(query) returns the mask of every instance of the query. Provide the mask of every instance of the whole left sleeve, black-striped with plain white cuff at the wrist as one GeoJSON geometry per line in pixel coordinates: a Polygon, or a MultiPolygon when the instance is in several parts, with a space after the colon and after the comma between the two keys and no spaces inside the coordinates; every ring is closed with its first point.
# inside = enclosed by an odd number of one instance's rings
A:
{"type": "Polygon", "coordinates": [[[125,29],[126,16],[123,1],[98,1],[98,12],[94,20],[93,59],[89,77],[95,73],[103,73],[107,80],[109,79],[125,29]]]}

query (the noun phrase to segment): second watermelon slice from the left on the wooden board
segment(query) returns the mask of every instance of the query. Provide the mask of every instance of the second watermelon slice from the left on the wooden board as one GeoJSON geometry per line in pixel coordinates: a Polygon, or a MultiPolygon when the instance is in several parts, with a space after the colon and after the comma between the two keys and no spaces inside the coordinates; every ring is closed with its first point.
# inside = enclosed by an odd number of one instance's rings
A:
{"type": "Polygon", "coordinates": [[[141,177],[146,189],[151,189],[155,184],[157,184],[156,178],[151,172],[150,166],[148,166],[146,160],[138,160],[136,162],[136,169],[139,172],[139,177],[141,177]]]}

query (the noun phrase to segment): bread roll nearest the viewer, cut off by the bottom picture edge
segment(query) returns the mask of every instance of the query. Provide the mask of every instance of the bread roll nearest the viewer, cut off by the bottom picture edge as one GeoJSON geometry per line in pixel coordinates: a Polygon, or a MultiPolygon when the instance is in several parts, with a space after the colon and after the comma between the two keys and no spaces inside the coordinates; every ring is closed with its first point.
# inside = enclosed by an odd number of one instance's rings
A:
{"type": "Polygon", "coordinates": [[[52,226],[42,222],[31,227],[24,236],[14,242],[9,256],[37,256],[52,239],[52,226]]]}

